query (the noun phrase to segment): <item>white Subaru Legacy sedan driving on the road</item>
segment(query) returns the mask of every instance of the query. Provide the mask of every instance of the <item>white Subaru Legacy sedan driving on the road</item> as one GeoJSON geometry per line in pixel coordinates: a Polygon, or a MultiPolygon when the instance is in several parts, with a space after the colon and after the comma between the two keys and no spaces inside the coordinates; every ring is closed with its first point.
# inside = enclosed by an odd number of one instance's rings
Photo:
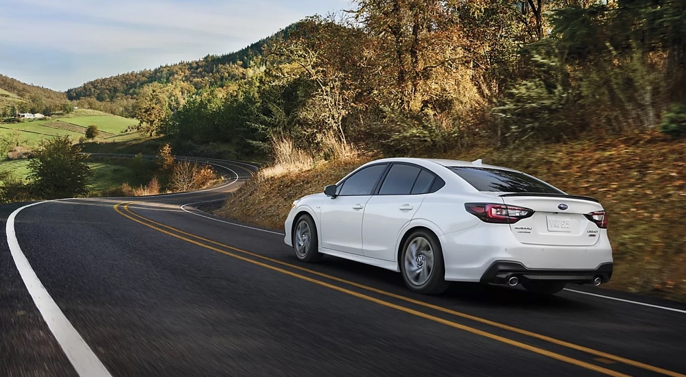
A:
{"type": "Polygon", "coordinates": [[[296,200],[285,234],[303,262],[328,254],[390,269],[426,294],[457,281],[549,295],[613,271],[598,200],[481,160],[368,162],[296,200]]]}

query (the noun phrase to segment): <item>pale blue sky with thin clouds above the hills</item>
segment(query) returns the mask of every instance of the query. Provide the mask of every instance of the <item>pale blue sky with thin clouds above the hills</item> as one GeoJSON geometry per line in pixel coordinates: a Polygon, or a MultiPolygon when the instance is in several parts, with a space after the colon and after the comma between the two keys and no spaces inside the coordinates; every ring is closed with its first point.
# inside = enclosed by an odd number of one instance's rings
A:
{"type": "Polygon", "coordinates": [[[67,90],[238,51],[348,0],[0,0],[0,74],[67,90]]]}

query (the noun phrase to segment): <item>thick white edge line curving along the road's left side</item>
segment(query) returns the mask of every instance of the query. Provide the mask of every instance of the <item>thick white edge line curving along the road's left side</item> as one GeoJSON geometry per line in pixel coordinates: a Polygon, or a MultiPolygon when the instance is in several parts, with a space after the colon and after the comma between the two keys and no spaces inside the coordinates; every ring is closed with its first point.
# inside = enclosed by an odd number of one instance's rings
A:
{"type": "Polygon", "coordinates": [[[47,289],[45,289],[43,283],[40,282],[40,279],[36,276],[36,272],[31,268],[29,260],[21,251],[19,241],[16,240],[16,232],[14,231],[14,218],[16,215],[24,208],[47,202],[54,201],[49,200],[46,202],[28,204],[14,210],[10,217],[8,217],[5,231],[7,232],[7,242],[10,246],[12,258],[14,258],[14,264],[16,265],[16,269],[19,270],[19,275],[26,285],[29,295],[31,295],[34,300],[34,304],[36,304],[36,308],[38,308],[40,315],[43,316],[43,320],[45,320],[45,323],[60,344],[64,354],[69,358],[71,365],[76,369],[78,375],[82,377],[111,377],[112,375],[110,372],[108,372],[99,358],[95,356],[93,350],[91,350],[86,341],[84,341],[69,319],[62,313],[55,300],[50,297],[47,289]]]}

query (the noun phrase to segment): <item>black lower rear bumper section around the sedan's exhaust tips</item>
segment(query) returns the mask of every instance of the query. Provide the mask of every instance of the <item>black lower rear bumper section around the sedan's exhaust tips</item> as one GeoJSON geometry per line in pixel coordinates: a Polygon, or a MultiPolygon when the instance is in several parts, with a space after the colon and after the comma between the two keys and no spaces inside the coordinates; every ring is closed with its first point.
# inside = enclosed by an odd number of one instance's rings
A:
{"type": "Polygon", "coordinates": [[[576,284],[591,284],[600,277],[602,282],[610,281],[613,263],[602,263],[596,269],[528,269],[519,262],[498,260],[494,262],[484,275],[481,282],[493,284],[507,284],[508,280],[516,277],[521,280],[570,282],[576,284]]]}

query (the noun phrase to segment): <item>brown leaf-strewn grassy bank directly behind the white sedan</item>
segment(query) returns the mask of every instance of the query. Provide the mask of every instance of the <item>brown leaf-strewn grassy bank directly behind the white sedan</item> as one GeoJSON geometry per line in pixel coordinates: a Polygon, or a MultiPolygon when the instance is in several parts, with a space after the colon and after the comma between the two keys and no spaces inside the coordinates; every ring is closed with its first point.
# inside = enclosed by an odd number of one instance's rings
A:
{"type": "MultiPolygon", "coordinates": [[[[600,199],[608,210],[615,258],[608,287],[686,301],[686,141],[640,132],[582,143],[480,147],[441,157],[483,158],[567,193],[600,199]]],[[[322,191],[368,160],[272,172],[242,186],[217,214],[283,229],[294,199],[322,191]]]]}

